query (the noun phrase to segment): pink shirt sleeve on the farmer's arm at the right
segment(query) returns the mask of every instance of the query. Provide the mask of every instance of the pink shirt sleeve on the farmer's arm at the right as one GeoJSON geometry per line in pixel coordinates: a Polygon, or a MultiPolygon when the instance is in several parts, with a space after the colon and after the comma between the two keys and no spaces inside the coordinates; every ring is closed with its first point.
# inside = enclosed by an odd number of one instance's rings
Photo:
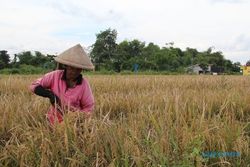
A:
{"type": "Polygon", "coordinates": [[[87,80],[84,80],[84,91],[81,98],[81,111],[92,112],[94,109],[94,96],[87,80]]]}

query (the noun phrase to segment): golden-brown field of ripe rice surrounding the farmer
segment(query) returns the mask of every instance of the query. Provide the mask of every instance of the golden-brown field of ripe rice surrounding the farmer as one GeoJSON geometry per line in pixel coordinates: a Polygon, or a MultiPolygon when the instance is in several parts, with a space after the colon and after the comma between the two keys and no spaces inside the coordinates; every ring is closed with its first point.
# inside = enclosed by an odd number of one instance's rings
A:
{"type": "Polygon", "coordinates": [[[89,75],[93,116],[54,129],[38,77],[0,76],[1,167],[250,166],[250,77],[89,75]]]}

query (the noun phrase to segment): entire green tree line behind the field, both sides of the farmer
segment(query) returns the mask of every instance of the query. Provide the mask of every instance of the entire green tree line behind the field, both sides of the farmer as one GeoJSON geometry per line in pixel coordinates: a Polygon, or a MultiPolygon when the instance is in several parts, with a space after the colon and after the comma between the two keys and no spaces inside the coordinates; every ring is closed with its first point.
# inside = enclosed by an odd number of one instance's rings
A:
{"type": "MultiPolygon", "coordinates": [[[[240,63],[233,63],[224,58],[220,51],[213,47],[205,51],[186,48],[184,51],[174,46],[173,42],[160,47],[152,42],[146,44],[140,40],[123,40],[117,42],[117,31],[107,29],[96,34],[96,41],[90,47],[90,57],[97,71],[132,71],[135,65],[140,71],[185,72],[188,66],[199,64],[203,69],[208,65],[223,68],[226,73],[240,72],[240,63]]],[[[21,52],[14,55],[11,61],[6,50],[0,51],[0,70],[15,69],[26,65],[41,69],[54,69],[55,55],[44,55],[39,51],[21,52]]]]}

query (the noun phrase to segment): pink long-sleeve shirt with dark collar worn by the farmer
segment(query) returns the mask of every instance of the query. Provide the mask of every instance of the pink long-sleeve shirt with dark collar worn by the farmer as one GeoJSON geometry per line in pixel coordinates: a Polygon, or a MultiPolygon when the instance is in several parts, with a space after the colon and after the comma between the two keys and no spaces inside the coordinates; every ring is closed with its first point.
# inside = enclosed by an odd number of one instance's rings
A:
{"type": "MultiPolygon", "coordinates": [[[[65,80],[63,80],[63,75],[63,70],[47,73],[42,78],[34,81],[30,85],[30,89],[34,92],[35,87],[38,85],[50,89],[60,98],[62,108],[68,109],[70,112],[92,112],[94,108],[94,97],[87,79],[82,78],[81,83],[76,84],[73,88],[68,88],[65,80]]],[[[52,125],[56,121],[63,121],[63,116],[57,110],[56,107],[51,106],[47,113],[47,118],[52,125]]]]}

